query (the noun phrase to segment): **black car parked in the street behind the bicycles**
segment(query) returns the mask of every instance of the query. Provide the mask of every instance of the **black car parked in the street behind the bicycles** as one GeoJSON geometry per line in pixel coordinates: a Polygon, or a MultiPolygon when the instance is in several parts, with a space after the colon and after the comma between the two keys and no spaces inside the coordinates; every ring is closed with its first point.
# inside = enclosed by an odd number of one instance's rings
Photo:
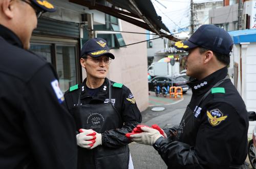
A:
{"type": "Polygon", "coordinates": [[[189,86],[186,84],[187,80],[183,77],[180,76],[174,76],[173,80],[172,80],[172,76],[156,76],[153,79],[148,81],[148,90],[149,91],[155,91],[154,88],[154,81],[156,80],[156,83],[158,85],[161,85],[164,83],[164,80],[166,81],[167,85],[169,87],[172,86],[172,82],[173,82],[173,86],[175,87],[181,87],[183,93],[186,93],[189,90],[189,86]]]}

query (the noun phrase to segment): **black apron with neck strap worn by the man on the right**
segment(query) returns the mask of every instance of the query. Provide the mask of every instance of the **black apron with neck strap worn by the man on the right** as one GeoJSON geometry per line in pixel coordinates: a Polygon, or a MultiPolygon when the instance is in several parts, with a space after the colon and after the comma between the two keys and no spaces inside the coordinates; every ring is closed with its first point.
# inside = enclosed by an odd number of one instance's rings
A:
{"type": "MultiPolygon", "coordinates": [[[[212,88],[218,87],[226,79],[229,79],[229,77],[226,76],[224,79],[218,81],[212,88]]],[[[199,106],[202,104],[202,102],[205,100],[205,98],[211,92],[211,89],[209,91],[207,91],[206,94],[201,98],[201,100],[199,101],[199,103],[194,111],[191,110],[188,106],[186,107],[185,113],[182,117],[181,123],[178,128],[175,140],[181,141],[181,142],[189,144],[189,145],[196,144],[196,137],[197,137],[197,132],[198,132],[199,125],[200,125],[200,119],[197,119],[194,116],[195,116],[199,106]]],[[[229,166],[229,168],[242,168],[242,165],[231,164],[229,166]]]]}

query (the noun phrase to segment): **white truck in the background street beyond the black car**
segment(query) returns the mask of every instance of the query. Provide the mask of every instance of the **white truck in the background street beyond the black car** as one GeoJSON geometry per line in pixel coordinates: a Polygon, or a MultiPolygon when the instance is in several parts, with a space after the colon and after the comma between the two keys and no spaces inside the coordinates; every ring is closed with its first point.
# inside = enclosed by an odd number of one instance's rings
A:
{"type": "Polygon", "coordinates": [[[165,75],[173,75],[180,73],[180,63],[175,62],[174,66],[170,65],[167,62],[154,62],[147,69],[148,74],[152,77],[155,76],[165,76],[165,75]]]}

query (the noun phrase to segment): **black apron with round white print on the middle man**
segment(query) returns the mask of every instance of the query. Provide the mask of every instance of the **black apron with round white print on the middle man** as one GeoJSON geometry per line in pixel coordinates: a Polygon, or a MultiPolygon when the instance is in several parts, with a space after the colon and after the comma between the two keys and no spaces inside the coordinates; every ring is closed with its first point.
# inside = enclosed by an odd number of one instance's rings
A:
{"type": "MultiPolygon", "coordinates": [[[[107,130],[122,128],[121,115],[111,103],[111,81],[109,82],[108,103],[82,105],[80,101],[81,90],[78,97],[78,106],[72,109],[76,122],[77,131],[82,129],[93,129],[98,133],[107,130]]],[[[92,150],[78,146],[78,169],[86,168],[123,168],[127,169],[129,164],[128,145],[118,148],[98,146],[92,150]]]]}

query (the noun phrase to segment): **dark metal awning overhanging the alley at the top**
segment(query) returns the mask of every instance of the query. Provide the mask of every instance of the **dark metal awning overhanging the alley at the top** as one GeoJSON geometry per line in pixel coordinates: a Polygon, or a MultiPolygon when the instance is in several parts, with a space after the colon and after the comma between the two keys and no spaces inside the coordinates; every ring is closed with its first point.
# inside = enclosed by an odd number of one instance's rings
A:
{"type": "Polygon", "coordinates": [[[164,32],[169,32],[167,27],[162,23],[161,17],[157,15],[156,10],[150,0],[69,0],[69,2],[86,6],[89,9],[98,10],[103,13],[112,15],[126,22],[132,23],[145,30],[154,32],[160,37],[165,37],[173,41],[179,39],[164,32]],[[115,7],[124,9],[119,10],[115,7]],[[125,11],[126,10],[126,11],[125,11]],[[164,31],[163,31],[164,30],[164,31]]]}

